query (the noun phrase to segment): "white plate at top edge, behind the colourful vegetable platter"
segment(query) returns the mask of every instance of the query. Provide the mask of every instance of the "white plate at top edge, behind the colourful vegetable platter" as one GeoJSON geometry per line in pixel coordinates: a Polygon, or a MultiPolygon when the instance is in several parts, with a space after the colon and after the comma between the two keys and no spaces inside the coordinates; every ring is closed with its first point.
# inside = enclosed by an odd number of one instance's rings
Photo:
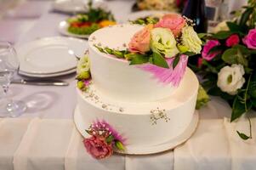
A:
{"type": "MultiPolygon", "coordinates": [[[[103,0],[94,0],[94,8],[107,8],[103,0]]],[[[54,10],[64,13],[86,13],[88,11],[88,0],[56,0],[53,4],[54,10]]]]}

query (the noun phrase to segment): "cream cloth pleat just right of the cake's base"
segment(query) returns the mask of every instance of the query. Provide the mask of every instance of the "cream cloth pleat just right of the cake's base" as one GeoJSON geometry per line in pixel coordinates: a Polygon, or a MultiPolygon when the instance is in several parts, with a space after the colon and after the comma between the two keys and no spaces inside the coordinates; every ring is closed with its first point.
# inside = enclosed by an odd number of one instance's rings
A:
{"type": "Polygon", "coordinates": [[[223,120],[201,120],[191,139],[174,150],[174,169],[230,169],[223,120]]]}

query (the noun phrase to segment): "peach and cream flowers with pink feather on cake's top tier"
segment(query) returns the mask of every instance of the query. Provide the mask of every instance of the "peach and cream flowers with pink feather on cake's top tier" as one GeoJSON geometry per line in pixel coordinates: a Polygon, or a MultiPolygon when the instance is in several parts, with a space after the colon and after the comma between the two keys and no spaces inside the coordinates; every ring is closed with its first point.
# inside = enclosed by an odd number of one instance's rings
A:
{"type": "Polygon", "coordinates": [[[200,54],[201,45],[191,20],[179,14],[166,14],[156,24],[146,25],[135,33],[127,49],[94,46],[102,53],[129,60],[130,65],[139,65],[159,82],[178,86],[185,74],[188,56],[200,54]]]}

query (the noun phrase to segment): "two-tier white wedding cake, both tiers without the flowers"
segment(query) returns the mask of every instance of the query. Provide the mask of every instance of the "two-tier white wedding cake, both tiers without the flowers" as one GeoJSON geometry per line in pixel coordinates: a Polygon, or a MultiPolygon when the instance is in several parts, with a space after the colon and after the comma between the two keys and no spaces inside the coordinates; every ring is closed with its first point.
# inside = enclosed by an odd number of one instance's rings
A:
{"type": "MultiPolygon", "coordinates": [[[[91,82],[86,90],[77,88],[74,118],[79,132],[88,138],[86,129],[104,122],[115,129],[111,133],[122,136],[122,150],[117,151],[126,154],[172,149],[191,136],[198,119],[195,106],[199,83],[189,68],[179,86],[174,86],[159,81],[139,65],[130,65],[127,59],[99,50],[127,49],[142,28],[127,24],[95,31],[88,39],[91,82]]],[[[90,135],[95,134],[93,131],[90,135]]]]}

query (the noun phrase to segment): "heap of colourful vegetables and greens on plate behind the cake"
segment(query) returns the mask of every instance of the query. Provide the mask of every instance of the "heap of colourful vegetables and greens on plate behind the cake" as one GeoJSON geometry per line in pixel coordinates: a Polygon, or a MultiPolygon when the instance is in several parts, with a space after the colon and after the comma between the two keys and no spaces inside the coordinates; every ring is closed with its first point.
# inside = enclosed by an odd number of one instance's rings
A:
{"type": "Polygon", "coordinates": [[[67,22],[69,23],[67,31],[77,35],[90,35],[105,26],[116,25],[111,12],[106,12],[102,8],[93,8],[91,1],[88,3],[86,14],[77,14],[68,19],[67,22]]]}

